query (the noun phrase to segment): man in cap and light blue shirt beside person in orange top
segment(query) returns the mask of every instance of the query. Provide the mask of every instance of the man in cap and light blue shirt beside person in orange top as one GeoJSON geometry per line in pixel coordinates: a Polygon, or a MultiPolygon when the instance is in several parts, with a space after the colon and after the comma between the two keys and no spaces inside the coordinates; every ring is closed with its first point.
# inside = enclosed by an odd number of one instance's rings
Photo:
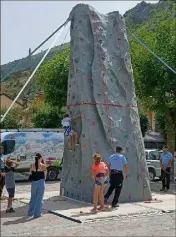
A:
{"type": "Polygon", "coordinates": [[[128,166],[126,158],[121,154],[123,153],[122,147],[116,148],[116,153],[111,155],[108,159],[107,166],[110,169],[110,187],[105,194],[105,202],[111,196],[115,189],[114,199],[112,201],[112,207],[119,207],[119,196],[123,186],[123,170],[125,171],[126,177],[128,176],[128,166]]]}

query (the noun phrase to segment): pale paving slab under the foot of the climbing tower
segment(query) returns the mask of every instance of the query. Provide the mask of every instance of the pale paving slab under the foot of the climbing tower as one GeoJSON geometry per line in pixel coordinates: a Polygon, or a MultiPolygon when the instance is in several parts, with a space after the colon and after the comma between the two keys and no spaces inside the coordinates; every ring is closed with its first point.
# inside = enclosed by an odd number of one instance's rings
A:
{"type": "Polygon", "coordinates": [[[92,213],[91,205],[87,203],[79,203],[74,200],[63,202],[63,206],[47,203],[47,209],[50,209],[53,214],[63,216],[77,222],[89,222],[99,219],[115,218],[118,216],[143,215],[156,212],[173,212],[175,211],[175,195],[171,194],[153,194],[154,201],[122,203],[119,208],[106,208],[103,212],[96,214],[92,213]]]}

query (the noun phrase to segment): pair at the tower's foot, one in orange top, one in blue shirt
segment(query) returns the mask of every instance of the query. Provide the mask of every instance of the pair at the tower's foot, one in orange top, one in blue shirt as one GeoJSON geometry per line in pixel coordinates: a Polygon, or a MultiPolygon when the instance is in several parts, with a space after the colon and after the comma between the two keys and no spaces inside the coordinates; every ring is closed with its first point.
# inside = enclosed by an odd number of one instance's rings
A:
{"type": "Polygon", "coordinates": [[[128,177],[129,168],[127,160],[124,157],[123,148],[117,147],[116,152],[111,155],[108,162],[105,164],[101,160],[101,155],[95,153],[94,164],[92,166],[92,178],[95,180],[93,203],[93,212],[103,211],[105,203],[107,203],[109,197],[115,190],[114,199],[112,201],[112,208],[119,206],[119,197],[123,186],[123,171],[125,171],[126,178],[128,177]],[[105,187],[107,186],[108,179],[110,179],[110,186],[107,193],[104,195],[105,187]],[[98,199],[100,201],[100,207],[98,206],[98,199]]]}

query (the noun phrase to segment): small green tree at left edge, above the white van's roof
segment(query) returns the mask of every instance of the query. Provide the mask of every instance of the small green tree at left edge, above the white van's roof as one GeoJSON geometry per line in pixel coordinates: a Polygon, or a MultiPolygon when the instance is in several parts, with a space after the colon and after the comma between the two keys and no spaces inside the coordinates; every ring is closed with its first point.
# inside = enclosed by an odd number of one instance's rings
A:
{"type": "MultiPolygon", "coordinates": [[[[5,113],[5,111],[6,111],[6,109],[1,109],[0,110],[1,117],[5,113]]],[[[0,123],[0,128],[1,129],[20,128],[21,127],[20,120],[21,120],[21,113],[19,112],[19,110],[18,109],[12,109],[9,112],[9,114],[6,116],[4,121],[2,123],[0,123]]]]}

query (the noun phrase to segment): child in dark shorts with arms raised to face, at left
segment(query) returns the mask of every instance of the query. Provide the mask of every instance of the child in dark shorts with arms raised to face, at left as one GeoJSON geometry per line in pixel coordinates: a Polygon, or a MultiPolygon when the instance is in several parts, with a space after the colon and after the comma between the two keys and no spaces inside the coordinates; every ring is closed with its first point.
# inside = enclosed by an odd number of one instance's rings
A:
{"type": "Polygon", "coordinates": [[[12,202],[15,196],[15,167],[19,164],[12,160],[7,160],[5,163],[5,186],[8,192],[8,203],[7,203],[7,210],[6,213],[15,212],[12,207],[12,202]]]}

